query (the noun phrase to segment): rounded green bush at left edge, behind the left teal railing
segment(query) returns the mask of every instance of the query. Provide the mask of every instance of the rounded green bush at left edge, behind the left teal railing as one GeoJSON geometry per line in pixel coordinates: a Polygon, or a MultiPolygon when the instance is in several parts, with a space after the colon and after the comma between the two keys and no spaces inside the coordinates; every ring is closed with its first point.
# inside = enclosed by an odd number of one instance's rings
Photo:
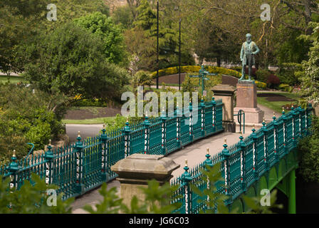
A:
{"type": "Polygon", "coordinates": [[[61,120],[50,110],[51,96],[39,90],[13,84],[0,85],[0,157],[10,159],[26,155],[32,142],[41,150],[48,140],[64,133],[61,120]]]}

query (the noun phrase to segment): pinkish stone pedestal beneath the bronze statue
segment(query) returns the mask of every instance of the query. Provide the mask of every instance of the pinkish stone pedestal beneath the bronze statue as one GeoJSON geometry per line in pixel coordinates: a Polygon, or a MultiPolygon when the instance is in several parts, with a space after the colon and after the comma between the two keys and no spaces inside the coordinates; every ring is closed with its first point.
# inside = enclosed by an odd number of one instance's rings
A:
{"type": "MultiPolygon", "coordinates": [[[[236,108],[234,113],[244,110],[245,124],[253,125],[263,122],[263,111],[257,107],[257,88],[254,81],[239,81],[237,84],[236,108]]],[[[237,118],[235,119],[238,123],[237,118]]]]}

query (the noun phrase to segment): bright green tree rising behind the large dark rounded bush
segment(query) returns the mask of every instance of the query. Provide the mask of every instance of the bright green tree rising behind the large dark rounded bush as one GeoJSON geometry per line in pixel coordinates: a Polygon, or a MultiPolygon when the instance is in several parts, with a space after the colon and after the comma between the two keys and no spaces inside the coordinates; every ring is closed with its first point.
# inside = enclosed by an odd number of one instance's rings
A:
{"type": "Polygon", "coordinates": [[[122,29],[115,25],[112,17],[95,12],[75,19],[74,23],[100,37],[103,41],[105,58],[108,62],[118,64],[125,61],[122,29]]]}

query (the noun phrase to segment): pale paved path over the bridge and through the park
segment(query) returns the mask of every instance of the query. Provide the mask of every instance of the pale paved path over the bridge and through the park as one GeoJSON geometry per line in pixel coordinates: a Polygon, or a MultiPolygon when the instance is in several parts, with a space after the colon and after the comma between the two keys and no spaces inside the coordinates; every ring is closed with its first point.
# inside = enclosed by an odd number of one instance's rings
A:
{"type": "MultiPolygon", "coordinates": [[[[262,105],[258,105],[258,107],[265,112],[266,122],[273,120],[273,110],[262,105]]],[[[280,113],[276,113],[276,117],[278,116],[280,116],[280,113]]],[[[83,135],[83,137],[89,137],[95,136],[98,131],[102,129],[102,127],[103,125],[66,125],[66,130],[71,141],[72,139],[75,140],[78,130],[80,130],[81,136],[83,135]],[[89,135],[90,133],[93,135],[89,135]]],[[[203,138],[202,140],[187,145],[181,150],[172,152],[171,154],[167,155],[167,157],[171,158],[172,160],[174,160],[175,163],[180,165],[179,169],[172,172],[172,175],[174,177],[182,175],[182,173],[184,172],[183,167],[185,165],[185,160],[187,160],[189,167],[194,167],[203,162],[206,159],[206,148],[209,148],[210,155],[215,155],[216,153],[221,152],[221,150],[224,149],[224,139],[227,140],[228,145],[233,145],[236,142],[239,142],[239,126],[237,126],[236,128],[236,133],[219,133],[217,135],[211,135],[207,138],[203,138]]],[[[261,125],[256,125],[256,129],[258,128],[261,128],[261,125]]],[[[244,138],[251,134],[251,129],[251,127],[246,126],[245,134],[243,135],[244,138]]],[[[118,182],[117,180],[108,182],[108,189],[110,189],[111,187],[116,187],[117,194],[120,195],[120,182],[118,182]]],[[[86,212],[82,208],[85,204],[94,206],[95,204],[103,200],[103,197],[100,196],[98,190],[100,190],[100,187],[96,188],[95,190],[91,190],[85,195],[75,199],[75,202],[73,202],[72,204],[73,214],[84,214],[86,212]]]]}

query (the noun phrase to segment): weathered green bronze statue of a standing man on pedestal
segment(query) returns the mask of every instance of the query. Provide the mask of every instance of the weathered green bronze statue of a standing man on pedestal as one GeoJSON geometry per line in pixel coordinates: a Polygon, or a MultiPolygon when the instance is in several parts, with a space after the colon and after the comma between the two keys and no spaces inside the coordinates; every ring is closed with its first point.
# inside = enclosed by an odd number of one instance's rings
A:
{"type": "Polygon", "coordinates": [[[251,41],[251,34],[246,34],[246,42],[241,46],[241,62],[243,63],[243,69],[241,71],[241,78],[239,80],[243,80],[245,76],[246,66],[249,66],[249,80],[251,80],[251,68],[255,65],[255,57],[256,53],[260,50],[255,42],[251,41]],[[254,49],[256,49],[254,51],[254,49]]]}

